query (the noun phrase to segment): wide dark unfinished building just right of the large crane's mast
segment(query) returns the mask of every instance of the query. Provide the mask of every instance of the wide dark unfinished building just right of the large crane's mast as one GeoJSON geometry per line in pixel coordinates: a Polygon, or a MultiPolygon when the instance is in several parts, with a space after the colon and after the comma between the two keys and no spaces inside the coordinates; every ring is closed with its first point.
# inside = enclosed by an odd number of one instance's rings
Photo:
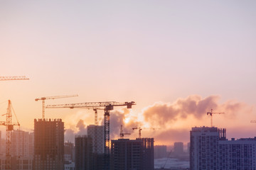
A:
{"type": "Polygon", "coordinates": [[[112,170],[154,169],[154,138],[111,140],[112,170]]]}

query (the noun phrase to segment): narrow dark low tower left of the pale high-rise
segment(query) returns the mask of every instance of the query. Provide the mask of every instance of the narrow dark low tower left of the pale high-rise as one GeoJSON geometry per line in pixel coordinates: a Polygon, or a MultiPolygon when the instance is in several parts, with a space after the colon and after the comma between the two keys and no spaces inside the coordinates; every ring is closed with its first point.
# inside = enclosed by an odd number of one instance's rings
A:
{"type": "Polygon", "coordinates": [[[92,138],[87,135],[75,137],[75,170],[92,170],[92,138]]]}

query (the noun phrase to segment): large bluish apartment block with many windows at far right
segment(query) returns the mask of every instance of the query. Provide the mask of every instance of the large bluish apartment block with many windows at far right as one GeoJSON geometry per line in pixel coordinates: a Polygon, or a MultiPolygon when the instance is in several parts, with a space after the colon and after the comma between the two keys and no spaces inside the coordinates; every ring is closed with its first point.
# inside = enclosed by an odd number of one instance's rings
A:
{"type": "Polygon", "coordinates": [[[226,130],[192,128],[190,166],[194,169],[256,169],[256,138],[227,140],[226,130]]]}

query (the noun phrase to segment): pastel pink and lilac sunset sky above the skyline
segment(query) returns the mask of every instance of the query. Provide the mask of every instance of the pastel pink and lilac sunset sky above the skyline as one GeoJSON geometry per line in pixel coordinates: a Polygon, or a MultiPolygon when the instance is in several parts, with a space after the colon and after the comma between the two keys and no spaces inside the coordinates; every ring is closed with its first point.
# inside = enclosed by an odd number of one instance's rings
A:
{"type": "MultiPolygon", "coordinates": [[[[189,141],[194,126],[254,137],[256,1],[0,1],[0,112],[11,100],[22,130],[42,117],[35,98],[78,94],[46,104],[135,101],[110,115],[156,144],[189,141]]],[[[66,136],[94,123],[87,109],[46,109],[66,136]]],[[[103,113],[99,111],[99,120],[103,113]]],[[[0,117],[4,120],[4,116],[0,117]]],[[[15,119],[14,119],[15,120],[15,119]]],[[[4,130],[4,128],[2,129],[4,130]]],[[[3,136],[2,136],[3,137],[3,136]]],[[[68,138],[66,138],[68,139],[68,138]]]]}

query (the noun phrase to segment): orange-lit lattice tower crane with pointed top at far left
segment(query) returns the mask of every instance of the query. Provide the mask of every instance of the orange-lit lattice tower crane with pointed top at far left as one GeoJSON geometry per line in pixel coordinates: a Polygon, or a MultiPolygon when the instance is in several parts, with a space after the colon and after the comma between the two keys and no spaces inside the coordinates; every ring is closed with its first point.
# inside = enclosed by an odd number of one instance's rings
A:
{"type": "Polygon", "coordinates": [[[0,121],[0,125],[4,125],[6,127],[6,169],[11,169],[11,131],[14,130],[14,125],[20,126],[18,123],[18,119],[16,117],[17,123],[12,123],[12,115],[11,110],[14,111],[14,108],[11,106],[11,101],[8,101],[8,107],[6,114],[6,121],[0,121]]]}

